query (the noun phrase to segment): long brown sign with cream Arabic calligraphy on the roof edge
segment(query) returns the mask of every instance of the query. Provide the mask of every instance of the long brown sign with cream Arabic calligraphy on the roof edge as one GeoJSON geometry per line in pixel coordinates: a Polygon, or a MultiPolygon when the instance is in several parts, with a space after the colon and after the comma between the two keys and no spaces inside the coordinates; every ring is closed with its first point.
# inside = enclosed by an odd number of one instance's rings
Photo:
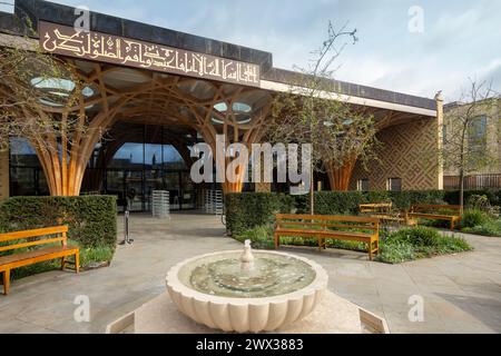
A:
{"type": "Polygon", "coordinates": [[[261,68],[240,61],[40,21],[40,46],[57,55],[259,87],[261,68]]]}

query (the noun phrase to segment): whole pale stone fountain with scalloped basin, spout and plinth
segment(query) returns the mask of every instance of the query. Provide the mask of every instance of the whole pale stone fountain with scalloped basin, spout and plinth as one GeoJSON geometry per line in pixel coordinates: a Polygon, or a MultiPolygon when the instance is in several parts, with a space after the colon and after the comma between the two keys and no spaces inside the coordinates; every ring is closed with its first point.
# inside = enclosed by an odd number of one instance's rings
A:
{"type": "Polygon", "coordinates": [[[173,267],[167,293],[107,327],[108,334],[386,334],[384,319],[327,290],[306,258],[223,251],[173,267]],[[179,313],[180,312],[180,313],[179,313]]]}

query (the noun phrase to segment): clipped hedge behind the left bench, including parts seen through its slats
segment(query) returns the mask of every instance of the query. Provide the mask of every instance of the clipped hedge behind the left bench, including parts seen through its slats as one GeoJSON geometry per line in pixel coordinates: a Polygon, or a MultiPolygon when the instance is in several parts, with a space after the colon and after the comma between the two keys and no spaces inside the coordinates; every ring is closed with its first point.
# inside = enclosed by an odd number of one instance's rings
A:
{"type": "MultiPolygon", "coordinates": [[[[117,246],[116,219],[116,198],[108,196],[16,197],[0,204],[1,233],[68,225],[69,244],[80,247],[84,269],[94,263],[111,261],[117,246]]],[[[59,260],[45,261],[12,270],[12,278],[19,279],[59,267],[59,260]]]]}

